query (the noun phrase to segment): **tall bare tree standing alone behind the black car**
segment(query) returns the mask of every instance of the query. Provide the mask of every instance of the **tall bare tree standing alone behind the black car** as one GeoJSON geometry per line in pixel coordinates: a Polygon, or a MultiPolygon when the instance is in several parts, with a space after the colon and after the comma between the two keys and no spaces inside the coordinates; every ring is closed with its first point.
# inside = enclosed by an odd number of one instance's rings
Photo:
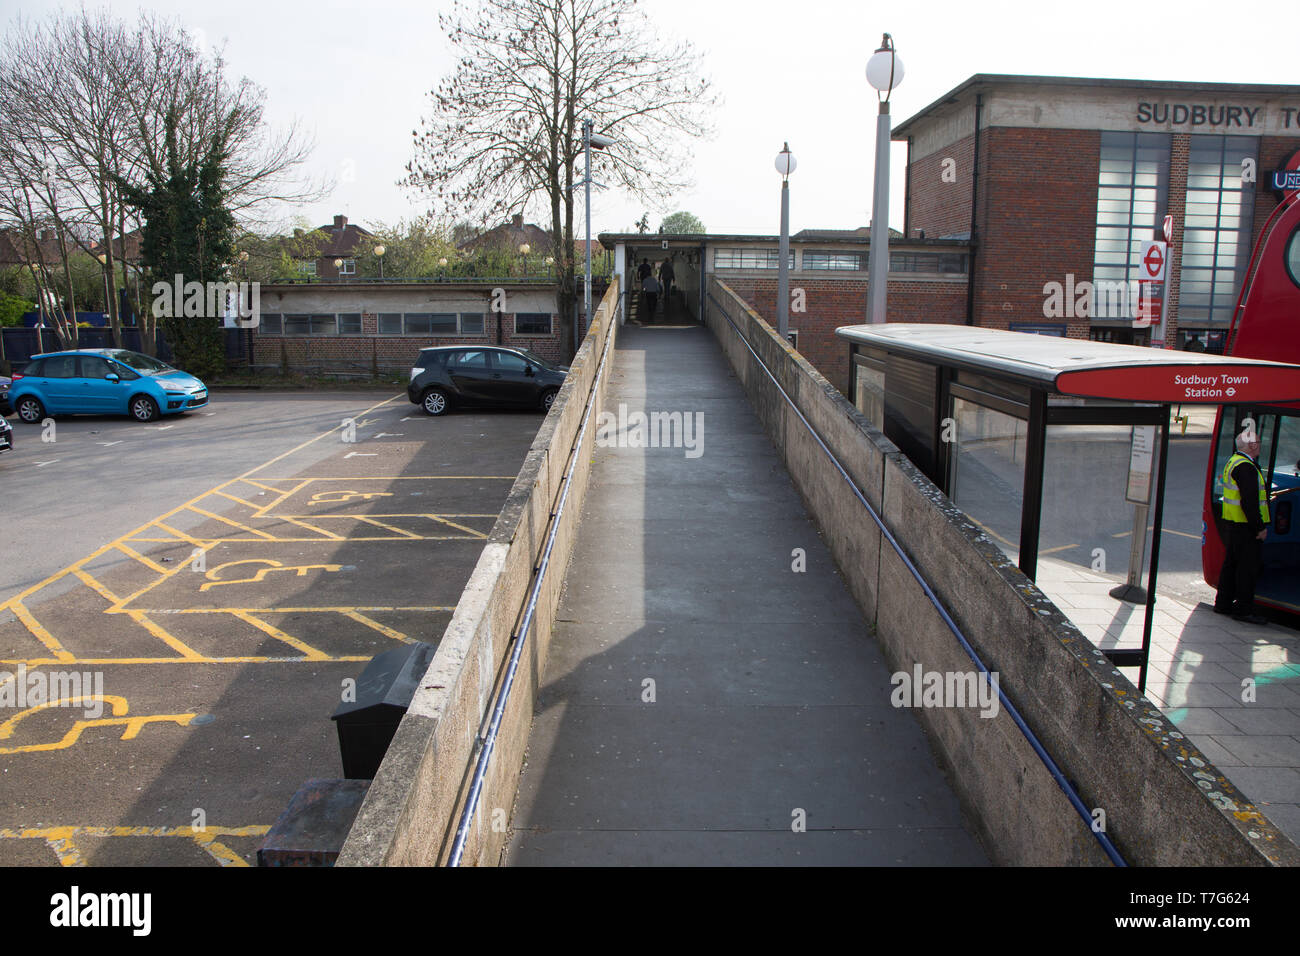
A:
{"type": "MultiPolygon", "coordinates": [[[[655,39],[634,0],[458,0],[439,17],[459,53],[415,134],[407,185],[452,217],[502,217],[545,198],[555,237],[556,306],[573,342],[575,165],[582,121],[616,146],[593,178],[659,200],[685,186],[692,137],[715,103],[688,43],[655,39]]],[[[580,181],[580,179],[578,179],[580,181]]]]}

